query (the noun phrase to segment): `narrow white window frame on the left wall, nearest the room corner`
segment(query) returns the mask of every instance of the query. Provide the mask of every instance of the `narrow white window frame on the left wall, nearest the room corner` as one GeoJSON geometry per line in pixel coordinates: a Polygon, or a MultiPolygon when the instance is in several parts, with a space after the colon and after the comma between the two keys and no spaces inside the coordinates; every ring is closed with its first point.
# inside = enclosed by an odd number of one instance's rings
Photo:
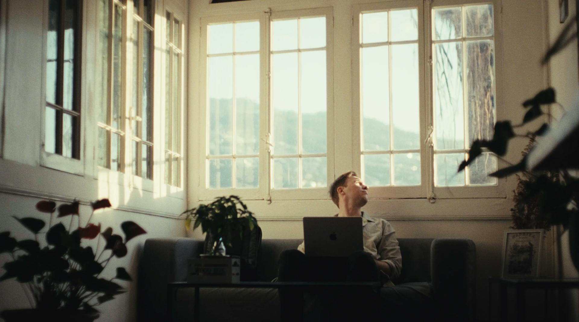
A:
{"type": "MultiPolygon", "coordinates": [[[[179,31],[180,32],[179,37],[181,38],[181,54],[180,54],[181,65],[179,66],[179,68],[181,69],[181,77],[179,80],[180,81],[179,85],[181,87],[181,95],[179,98],[179,105],[180,105],[180,109],[181,109],[181,119],[179,119],[179,122],[181,123],[181,125],[180,125],[181,132],[179,133],[179,135],[181,135],[181,140],[180,140],[180,142],[181,142],[181,146],[180,146],[180,149],[181,149],[181,162],[180,162],[181,163],[181,172],[179,173],[179,181],[180,181],[181,185],[179,187],[177,187],[177,186],[173,186],[173,185],[165,183],[164,153],[166,150],[166,146],[164,146],[164,143],[165,143],[164,138],[166,137],[167,133],[165,133],[165,127],[164,127],[164,124],[166,121],[166,115],[164,113],[164,109],[161,113],[162,114],[162,120],[160,122],[162,124],[162,126],[160,128],[160,132],[162,133],[163,140],[161,141],[161,144],[159,144],[159,145],[163,146],[163,148],[162,148],[163,166],[160,166],[160,169],[159,169],[159,180],[161,181],[161,183],[160,183],[161,184],[161,191],[165,195],[167,195],[169,197],[175,197],[178,199],[185,199],[185,186],[186,186],[185,173],[186,173],[186,159],[188,157],[187,156],[188,150],[186,149],[186,144],[185,144],[185,142],[186,142],[185,125],[187,124],[185,122],[185,120],[186,120],[186,117],[188,114],[188,113],[186,113],[187,109],[185,108],[185,106],[187,105],[186,99],[188,98],[188,95],[187,95],[188,91],[186,90],[187,83],[186,83],[186,77],[185,77],[185,71],[187,70],[186,64],[188,61],[188,55],[187,55],[188,54],[188,52],[187,52],[188,42],[186,41],[186,39],[188,39],[188,37],[187,37],[187,34],[188,34],[187,33],[187,20],[186,20],[187,16],[186,16],[185,12],[178,5],[174,5],[173,3],[168,2],[168,1],[165,1],[165,3],[164,3],[163,12],[165,15],[167,14],[167,12],[172,13],[173,18],[177,18],[177,20],[179,20],[179,22],[180,22],[179,27],[181,28],[181,30],[179,31]]],[[[166,49],[166,46],[167,46],[167,41],[166,41],[167,40],[166,39],[166,35],[167,35],[166,28],[167,27],[166,27],[166,25],[167,24],[164,24],[163,28],[157,28],[157,29],[162,29],[162,31],[163,31],[163,36],[162,36],[162,38],[164,40],[163,41],[163,44],[164,44],[163,49],[166,49]]],[[[163,51],[163,52],[165,53],[165,51],[163,51]]],[[[162,86],[162,91],[161,91],[162,95],[160,95],[160,96],[162,96],[163,102],[165,102],[166,95],[167,95],[166,82],[165,82],[166,77],[165,76],[166,76],[166,73],[168,71],[165,68],[165,66],[166,66],[165,60],[166,59],[167,59],[166,54],[164,54],[162,64],[160,64],[161,66],[163,66],[162,67],[162,69],[163,69],[163,72],[162,72],[163,86],[162,86]]],[[[163,104],[162,104],[162,106],[163,106],[163,104]]]]}

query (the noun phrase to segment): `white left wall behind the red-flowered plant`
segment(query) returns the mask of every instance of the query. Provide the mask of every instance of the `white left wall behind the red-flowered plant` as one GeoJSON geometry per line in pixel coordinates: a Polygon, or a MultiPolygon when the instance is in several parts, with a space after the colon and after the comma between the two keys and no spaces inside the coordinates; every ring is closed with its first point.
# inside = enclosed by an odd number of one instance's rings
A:
{"type": "MultiPolygon", "coordinates": [[[[6,81],[5,88],[0,88],[0,90],[5,89],[6,93],[5,100],[0,102],[4,104],[4,109],[0,109],[0,112],[4,112],[5,116],[3,129],[5,142],[3,154],[0,154],[3,157],[0,158],[0,205],[2,205],[0,232],[10,231],[19,239],[29,238],[30,233],[22,228],[12,216],[38,217],[47,222],[47,215],[37,212],[34,208],[36,202],[41,199],[52,199],[57,203],[78,199],[81,203],[82,222],[86,223],[91,211],[89,202],[109,198],[113,207],[99,210],[91,220],[93,223],[101,223],[103,229],[112,227],[113,231],[123,235],[120,224],[131,220],[141,225],[147,234],[130,240],[127,245],[129,249],[127,256],[113,258],[102,273],[104,277],[110,278],[115,275],[117,267],[124,267],[133,277],[134,282],[124,284],[128,290],[126,294],[118,295],[113,301],[97,307],[101,311],[101,317],[97,321],[136,321],[139,250],[146,238],[185,235],[184,223],[177,219],[178,214],[185,210],[184,194],[172,194],[161,188],[159,169],[162,167],[162,162],[157,162],[158,160],[155,162],[157,180],[153,191],[142,190],[130,178],[125,182],[116,180],[123,177],[119,173],[105,171],[108,175],[99,176],[103,170],[98,169],[93,162],[94,131],[96,131],[94,113],[96,112],[93,99],[91,99],[94,97],[94,87],[96,87],[94,86],[96,0],[83,1],[85,4],[82,75],[84,85],[81,95],[84,101],[81,121],[82,135],[86,138],[84,149],[81,151],[83,171],[80,175],[74,175],[41,166],[41,111],[45,104],[41,90],[44,86],[43,39],[45,32],[43,22],[46,18],[43,10],[45,10],[45,1],[7,0],[7,2],[6,69],[0,75],[5,76],[6,81]],[[98,179],[99,177],[101,180],[98,179]]],[[[157,0],[157,12],[162,13],[164,5],[168,5],[169,2],[171,2],[171,8],[178,8],[171,10],[181,10],[185,14],[188,12],[188,2],[185,0],[157,0]]],[[[163,17],[160,16],[160,18],[163,17]]],[[[164,29],[158,28],[158,30],[161,32],[164,29]]],[[[160,43],[164,41],[164,38],[158,37],[157,41],[160,43]]],[[[156,46],[159,43],[156,43],[156,46]]],[[[156,55],[155,58],[157,71],[162,66],[158,57],[160,55],[156,55]]],[[[156,88],[157,98],[160,98],[160,95],[157,95],[159,92],[160,88],[156,88]]],[[[155,102],[156,115],[160,115],[163,106],[160,105],[160,99],[156,99],[155,102]]],[[[160,135],[156,136],[156,142],[160,142],[160,135]]],[[[161,155],[159,151],[155,153],[157,156],[161,155]]],[[[162,157],[159,157],[159,160],[162,160],[162,157]]],[[[63,221],[68,225],[69,217],[63,221]]],[[[43,240],[42,236],[39,239],[43,240]]],[[[87,242],[87,245],[92,242],[96,242],[96,239],[87,242]]],[[[93,245],[93,248],[95,246],[93,245]]],[[[102,240],[100,247],[102,248],[102,240]]],[[[0,255],[0,267],[8,260],[8,254],[0,255]]],[[[0,275],[4,272],[0,269],[0,275]]],[[[14,280],[0,283],[0,311],[27,307],[28,301],[18,283],[14,280]]]]}

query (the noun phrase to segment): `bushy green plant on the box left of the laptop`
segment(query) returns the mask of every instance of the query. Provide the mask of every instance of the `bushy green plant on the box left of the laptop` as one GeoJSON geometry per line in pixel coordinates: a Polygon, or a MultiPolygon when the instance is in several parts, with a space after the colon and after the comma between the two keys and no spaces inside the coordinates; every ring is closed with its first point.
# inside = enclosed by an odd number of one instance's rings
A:
{"type": "Polygon", "coordinates": [[[207,254],[210,256],[223,255],[221,243],[231,249],[236,240],[241,240],[245,228],[252,231],[257,226],[253,213],[236,195],[217,197],[208,205],[199,205],[182,214],[188,230],[193,222],[193,230],[201,226],[201,231],[210,235],[211,251],[207,254]]]}

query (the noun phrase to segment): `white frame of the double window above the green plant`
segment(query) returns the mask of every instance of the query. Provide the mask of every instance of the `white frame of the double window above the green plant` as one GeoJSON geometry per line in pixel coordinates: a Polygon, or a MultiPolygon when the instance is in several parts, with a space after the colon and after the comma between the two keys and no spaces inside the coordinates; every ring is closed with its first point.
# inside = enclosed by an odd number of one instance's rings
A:
{"type": "MultiPolygon", "coordinates": [[[[199,199],[208,200],[219,195],[234,194],[242,199],[328,199],[329,184],[334,179],[334,43],[332,8],[316,8],[288,10],[281,12],[231,14],[227,16],[201,17],[200,28],[200,136],[199,136],[199,199]],[[273,19],[316,17],[326,18],[326,71],[327,71],[327,187],[301,189],[272,189],[273,177],[271,174],[270,133],[271,101],[270,101],[270,26],[273,19]],[[259,21],[260,23],[260,108],[259,108],[259,187],[258,188],[220,188],[210,189],[207,182],[207,26],[210,24],[259,21]]],[[[230,156],[224,156],[230,157],[230,156]]],[[[301,175],[301,174],[300,174],[301,175]]],[[[233,178],[234,180],[235,178],[233,178]]]]}

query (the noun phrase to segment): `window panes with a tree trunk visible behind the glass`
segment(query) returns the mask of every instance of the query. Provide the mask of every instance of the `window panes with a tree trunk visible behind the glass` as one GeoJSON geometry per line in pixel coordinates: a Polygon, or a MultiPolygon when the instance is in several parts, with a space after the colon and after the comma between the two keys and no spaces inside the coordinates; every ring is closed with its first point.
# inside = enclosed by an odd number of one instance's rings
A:
{"type": "Polygon", "coordinates": [[[497,159],[483,153],[456,173],[496,121],[493,5],[434,7],[432,25],[435,186],[495,185],[497,159]]]}

